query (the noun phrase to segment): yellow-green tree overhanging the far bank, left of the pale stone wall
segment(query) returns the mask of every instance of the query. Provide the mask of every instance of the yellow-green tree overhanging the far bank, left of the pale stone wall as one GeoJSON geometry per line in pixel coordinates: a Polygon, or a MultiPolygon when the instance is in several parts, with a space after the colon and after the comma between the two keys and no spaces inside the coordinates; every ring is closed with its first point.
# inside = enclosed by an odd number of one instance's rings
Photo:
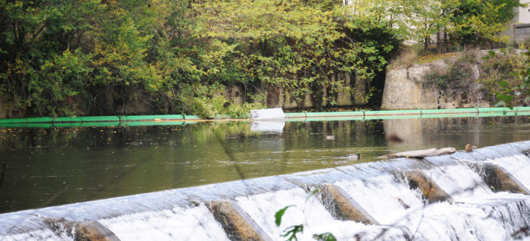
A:
{"type": "Polygon", "coordinates": [[[370,81],[398,43],[386,19],[345,14],[349,7],[338,4],[208,1],[196,7],[202,12],[196,36],[228,48],[230,55],[222,56],[233,62],[222,63],[243,73],[233,79],[282,87],[298,102],[323,86],[330,92],[344,87],[344,79],[333,74],[349,72],[370,81]]]}

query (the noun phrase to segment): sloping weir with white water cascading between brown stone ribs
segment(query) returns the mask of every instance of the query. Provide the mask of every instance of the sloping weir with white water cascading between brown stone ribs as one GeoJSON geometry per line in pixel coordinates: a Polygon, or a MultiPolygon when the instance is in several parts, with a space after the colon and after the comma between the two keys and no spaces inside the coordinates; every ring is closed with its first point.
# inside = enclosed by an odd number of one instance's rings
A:
{"type": "Polygon", "coordinates": [[[530,141],[0,214],[0,240],[513,240],[530,141]],[[286,209],[279,227],[275,213],[286,209]]]}

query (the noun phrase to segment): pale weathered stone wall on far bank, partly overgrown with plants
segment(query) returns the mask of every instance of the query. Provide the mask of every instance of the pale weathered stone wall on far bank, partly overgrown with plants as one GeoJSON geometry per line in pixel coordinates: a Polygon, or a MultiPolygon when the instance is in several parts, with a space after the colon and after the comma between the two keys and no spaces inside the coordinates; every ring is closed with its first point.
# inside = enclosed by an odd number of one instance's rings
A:
{"type": "MultiPolygon", "coordinates": [[[[386,73],[382,109],[453,109],[468,107],[489,107],[484,101],[484,96],[474,98],[471,101],[466,93],[446,94],[433,85],[427,85],[424,77],[431,71],[444,71],[449,66],[438,60],[429,64],[413,65],[412,67],[400,67],[389,70],[386,73]]],[[[473,80],[480,77],[477,65],[471,67],[473,80]]],[[[480,84],[474,83],[469,86],[469,92],[478,92],[480,84]]]]}

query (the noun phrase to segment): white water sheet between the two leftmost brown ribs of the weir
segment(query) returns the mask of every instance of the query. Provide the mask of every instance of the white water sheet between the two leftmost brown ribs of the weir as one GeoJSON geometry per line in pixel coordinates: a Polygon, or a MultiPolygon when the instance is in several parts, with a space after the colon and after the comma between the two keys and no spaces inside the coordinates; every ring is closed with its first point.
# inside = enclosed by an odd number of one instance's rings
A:
{"type": "Polygon", "coordinates": [[[99,220],[121,241],[126,240],[229,240],[204,205],[163,211],[144,211],[99,220]]]}

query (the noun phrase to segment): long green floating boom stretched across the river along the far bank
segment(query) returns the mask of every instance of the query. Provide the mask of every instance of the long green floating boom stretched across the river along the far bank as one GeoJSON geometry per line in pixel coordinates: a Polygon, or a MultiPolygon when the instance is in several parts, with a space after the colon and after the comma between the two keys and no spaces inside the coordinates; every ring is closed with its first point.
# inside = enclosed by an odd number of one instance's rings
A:
{"type": "MultiPolygon", "coordinates": [[[[357,112],[295,112],[286,113],[286,121],[354,121],[393,118],[449,118],[482,116],[530,116],[530,107],[491,107],[461,109],[404,109],[357,112]]],[[[215,120],[230,119],[217,115],[215,120]]],[[[200,121],[194,115],[147,115],[147,116],[78,116],[35,117],[0,119],[0,127],[110,127],[118,125],[182,125],[200,121]]]]}

